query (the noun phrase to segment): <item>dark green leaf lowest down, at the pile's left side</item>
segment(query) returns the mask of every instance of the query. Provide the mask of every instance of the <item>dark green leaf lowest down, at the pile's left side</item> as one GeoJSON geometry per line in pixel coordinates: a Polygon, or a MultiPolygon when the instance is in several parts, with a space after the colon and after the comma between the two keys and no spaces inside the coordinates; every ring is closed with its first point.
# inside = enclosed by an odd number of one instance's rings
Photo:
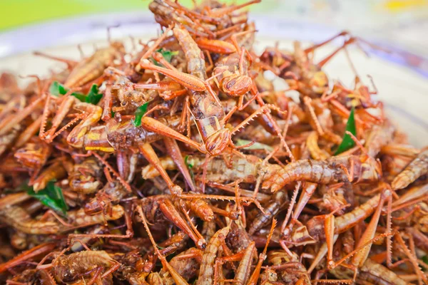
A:
{"type": "Polygon", "coordinates": [[[27,194],[39,199],[41,204],[53,209],[55,212],[58,212],[58,214],[66,216],[68,209],[66,201],[63,197],[61,188],[56,186],[54,181],[48,182],[48,185],[39,192],[34,192],[33,187],[29,187],[27,189],[27,194]]]}

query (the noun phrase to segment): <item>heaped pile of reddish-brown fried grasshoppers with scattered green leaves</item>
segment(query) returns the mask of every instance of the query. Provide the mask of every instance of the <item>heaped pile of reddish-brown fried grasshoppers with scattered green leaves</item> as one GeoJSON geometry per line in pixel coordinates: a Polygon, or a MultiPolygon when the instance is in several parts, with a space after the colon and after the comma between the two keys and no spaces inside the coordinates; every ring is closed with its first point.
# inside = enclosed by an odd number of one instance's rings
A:
{"type": "Polygon", "coordinates": [[[154,0],[132,51],[1,74],[1,284],[427,284],[428,150],[322,70],[367,42],[255,53],[259,1],[154,0]]]}

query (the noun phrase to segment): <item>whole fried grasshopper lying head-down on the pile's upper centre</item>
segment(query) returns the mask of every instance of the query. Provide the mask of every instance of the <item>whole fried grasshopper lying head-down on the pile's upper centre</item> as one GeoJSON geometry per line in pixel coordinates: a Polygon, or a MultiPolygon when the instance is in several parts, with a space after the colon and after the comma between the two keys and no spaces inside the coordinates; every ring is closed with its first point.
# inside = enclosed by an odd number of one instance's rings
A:
{"type": "MultiPolygon", "coordinates": [[[[193,41],[193,38],[190,37],[190,34],[185,29],[175,27],[173,28],[173,31],[181,48],[185,51],[189,74],[171,71],[167,68],[161,68],[153,65],[152,63],[148,63],[147,61],[140,62],[139,67],[163,73],[165,76],[173,78],[175,81],[190,90],[190,102],[193,105],[193,115],[195,116],[196,125],[198,126],[198,132],[203,139],[203,144],[194,142],[184,135],[166,128],[165,125],[149,117],[144,117],[141,120],[141,125],[143,125],[143,128],[146,128],[147,130],[188,143],[200,152],[208,153],[211,156],[220,155],[223,150],[225,150],[225,147],[233,146],[233,142],[231,140],[231,135],[233,133],[237,132],[256,115],[266,113],[270,108],[277,108],[272,105],[263,105],[262,108],[253,113],[250,118],[245,119],[243,123],[238,125],[232,131],[225,128],[225,119],[227,118],[225,118],[225,113],[217,95],[210,87],[210,83],[206,81],[205,61],[200,56],[200,48],[198,48],[195,41],[193,41]]],[[[276,130],[280,135],[279,128],[276,128],[276,130]]]]}

